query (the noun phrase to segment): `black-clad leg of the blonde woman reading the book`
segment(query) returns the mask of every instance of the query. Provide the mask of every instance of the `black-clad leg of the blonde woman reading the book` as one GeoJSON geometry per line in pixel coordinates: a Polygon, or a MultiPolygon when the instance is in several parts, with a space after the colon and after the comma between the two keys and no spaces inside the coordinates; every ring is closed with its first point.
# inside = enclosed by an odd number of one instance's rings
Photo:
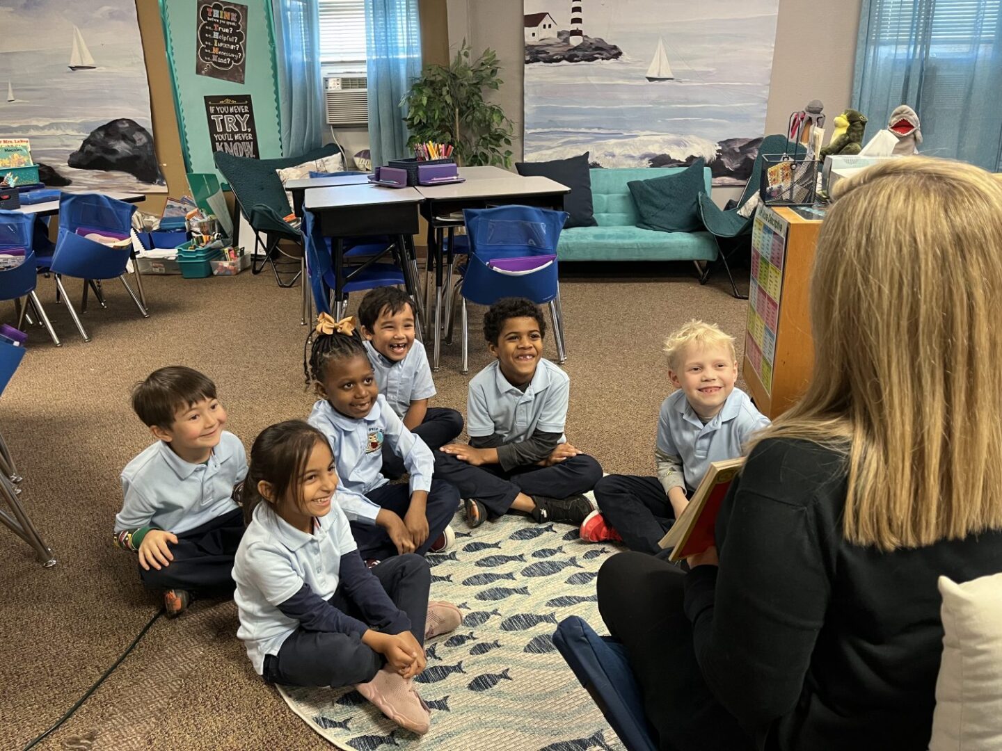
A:
{"type": "Polygon", "coordinates": [[[662,751],[742,751],[749,737],[710,693],[682,610],[684,573],[644,553],[612,556],[598,572],[598,611],[626,647],[662,751]]]}

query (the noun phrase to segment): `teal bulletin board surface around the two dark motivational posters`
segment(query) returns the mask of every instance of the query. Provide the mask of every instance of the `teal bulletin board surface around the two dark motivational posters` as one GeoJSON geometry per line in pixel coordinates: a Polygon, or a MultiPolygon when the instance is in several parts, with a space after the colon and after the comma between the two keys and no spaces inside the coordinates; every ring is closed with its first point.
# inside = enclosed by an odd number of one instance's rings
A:
{"type": "Polygon", "coordinates": [[[198,20],[196,0],[159,2],[186,171],[218,174],[212,161],[212,142],[205,113],[206,96],[249,95],[254,106],[259,155],[263,159],[281,157],[279,81],[270,0],[238,0],[247,7],[243,83],[195,73],[198,20]]]}

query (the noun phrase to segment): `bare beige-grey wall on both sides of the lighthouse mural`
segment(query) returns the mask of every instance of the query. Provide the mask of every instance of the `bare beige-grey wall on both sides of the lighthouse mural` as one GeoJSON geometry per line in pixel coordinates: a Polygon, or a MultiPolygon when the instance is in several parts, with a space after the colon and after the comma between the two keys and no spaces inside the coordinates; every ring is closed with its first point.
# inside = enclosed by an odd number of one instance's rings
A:
{"type": "MultiPolygon", "coordinates": [[[[780,0],[766,133],[785,132],[790,113],[803,109],[811,99],[825,103],[829,122],[850,105],[861,5],[862,0],[780,0]]],[[[512,151],[520,159],[525,73],[522,3],[447,0],[447,13],[451,48],[466,39],[474,52],[490,47],[498,53],[504,85],[492,100],[515,123],[512,151]]],[[[713,198],[725,201],[738,192],[714,188],[713,198]]]]}

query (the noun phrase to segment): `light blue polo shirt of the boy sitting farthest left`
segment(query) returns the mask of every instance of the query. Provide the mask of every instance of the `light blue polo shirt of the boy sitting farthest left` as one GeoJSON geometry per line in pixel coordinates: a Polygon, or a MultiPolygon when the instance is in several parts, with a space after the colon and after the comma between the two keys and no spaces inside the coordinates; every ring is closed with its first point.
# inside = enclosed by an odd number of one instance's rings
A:
{"type": "Polygon", "coordinates": [[[122,470],[125,503],[115,517],[115,532],[149,525],[179,535],[200,527],[239,508],[233,486],[246,474],[243,444],[227,431],[203,465],[185,462],[157,441],[122,470]]]}

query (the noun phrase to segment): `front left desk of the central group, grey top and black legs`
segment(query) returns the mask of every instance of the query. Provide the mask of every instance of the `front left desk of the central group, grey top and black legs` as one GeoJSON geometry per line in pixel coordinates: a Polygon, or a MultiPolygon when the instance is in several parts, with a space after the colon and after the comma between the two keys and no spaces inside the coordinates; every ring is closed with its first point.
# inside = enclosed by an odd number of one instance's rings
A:
{"type": "Polygon", "coordinates": [[[400,248],[407,291],[417,301],[419,314],[423,314],[417,263],[408,256],[407,241],[418,231],[418,204],[423,200],[414,188],[366,184],[311,188],[303,205],[317,215],[321,231],[334,240],[331,255],[339,280],[344,269],[345,237],[394,235],[400,248]]]}

